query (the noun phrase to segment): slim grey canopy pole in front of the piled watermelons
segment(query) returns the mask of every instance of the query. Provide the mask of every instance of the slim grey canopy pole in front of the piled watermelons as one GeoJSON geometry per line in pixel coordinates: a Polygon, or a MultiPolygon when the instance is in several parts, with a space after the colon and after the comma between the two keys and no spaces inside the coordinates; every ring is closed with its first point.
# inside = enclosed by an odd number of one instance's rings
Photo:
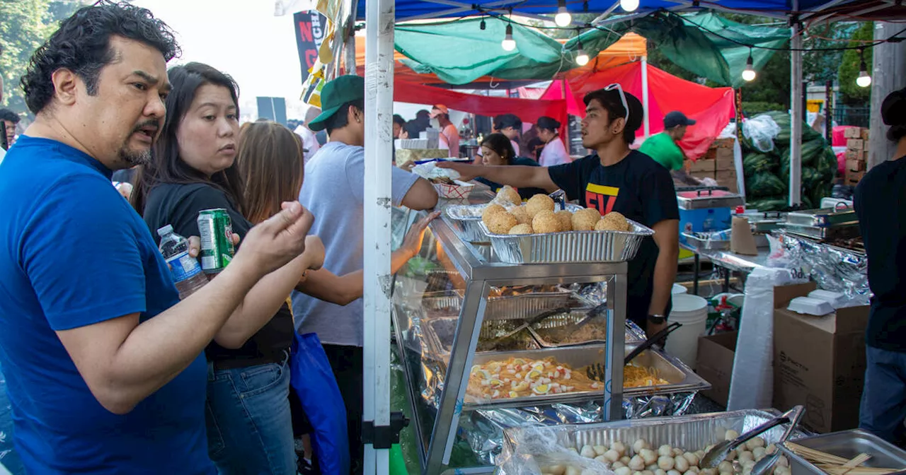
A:
{"type": "MultiPolygon", "coordinates": [[[[798,1],[794,10],[798,10],[798,1]]],[[[802,203],[802,24],[794,17],[793,37],[790,41],[790,206],[802,203]]]]}

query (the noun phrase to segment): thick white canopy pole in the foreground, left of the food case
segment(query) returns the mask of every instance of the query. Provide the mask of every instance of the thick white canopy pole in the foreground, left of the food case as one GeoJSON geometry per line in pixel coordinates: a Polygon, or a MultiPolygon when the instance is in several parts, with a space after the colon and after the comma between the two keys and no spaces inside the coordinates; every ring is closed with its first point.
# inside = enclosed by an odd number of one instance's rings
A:
{"type": "Polygon", "coordinates": [[[390,156],[393,129],[394,0],[368,0],[365,7],[365,193],[364,408],[363,426],[374,427],[365,443],[364,473],[390,471],[390,156]]]}

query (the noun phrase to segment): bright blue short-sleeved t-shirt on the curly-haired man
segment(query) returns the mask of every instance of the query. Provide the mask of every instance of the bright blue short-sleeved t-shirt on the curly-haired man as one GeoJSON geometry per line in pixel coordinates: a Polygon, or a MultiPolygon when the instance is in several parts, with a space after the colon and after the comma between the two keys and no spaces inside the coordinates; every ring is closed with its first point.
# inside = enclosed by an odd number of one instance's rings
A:
{"type": "Polygon", "coordinates": [[[104,409],[55,331],[140,312],[178,293],[148,226],[75,148],[21,137],[0,164],[0,361],[15,449],[30,473],[213,474],[207,367],[186,370],[130,413],[104,409]]]}

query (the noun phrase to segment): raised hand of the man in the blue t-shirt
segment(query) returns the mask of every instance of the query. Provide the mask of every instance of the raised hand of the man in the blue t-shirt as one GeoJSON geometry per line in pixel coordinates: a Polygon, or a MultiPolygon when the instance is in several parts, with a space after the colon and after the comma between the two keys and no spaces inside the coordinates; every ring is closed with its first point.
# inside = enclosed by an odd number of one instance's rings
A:
{"type": "Polygon", "coordinates": [[[305,236],[312,228],[314,215],[299,202],[285,202],[283,210],[270,219],[258,223],[246,234],[246,242],[236,261],[255,266],[265,275],[292,261],[305,251],[305,236]]]}

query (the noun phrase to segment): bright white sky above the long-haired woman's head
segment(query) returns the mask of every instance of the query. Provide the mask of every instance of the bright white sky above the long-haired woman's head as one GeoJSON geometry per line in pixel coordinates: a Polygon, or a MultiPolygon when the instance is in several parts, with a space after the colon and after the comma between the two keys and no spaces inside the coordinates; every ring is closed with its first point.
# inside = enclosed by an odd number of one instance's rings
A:
{"type": "Polygon", "coordinates": [[[256,118],[255,97],[286,99],[287,117],[304,118],[293,15],[274,16],[274,0],[132,0],[177,33],[182,57],[169,65],[205,62],[239,84],[244,119],[256,118]]]}

